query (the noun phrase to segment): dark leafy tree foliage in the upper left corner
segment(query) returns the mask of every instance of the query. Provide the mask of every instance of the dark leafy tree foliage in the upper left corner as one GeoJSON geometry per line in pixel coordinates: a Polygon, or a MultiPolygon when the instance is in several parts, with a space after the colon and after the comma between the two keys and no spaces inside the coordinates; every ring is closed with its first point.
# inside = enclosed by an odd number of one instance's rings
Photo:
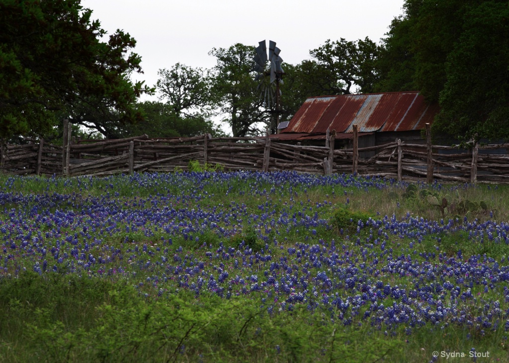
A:
{"type": "Polygon", "coordinates": [[[55,111],[143,118],[133,104],[151,90],[127,76],[141,72],[129,52],[135,40],[117,31],[102,42],[106,32],[91,15],[80,0],[0,4],[0,137],[49,132],[55,111]]]}

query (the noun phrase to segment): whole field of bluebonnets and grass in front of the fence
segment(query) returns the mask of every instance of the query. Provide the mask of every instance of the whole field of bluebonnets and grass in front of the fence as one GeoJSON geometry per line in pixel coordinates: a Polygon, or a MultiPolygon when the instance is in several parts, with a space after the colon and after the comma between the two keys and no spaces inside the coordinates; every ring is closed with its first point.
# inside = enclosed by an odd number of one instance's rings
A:
{"type": "Polygon", "coordinates": [[[507,191],[0,175],[0,360],[507,361],[507,191]]]}

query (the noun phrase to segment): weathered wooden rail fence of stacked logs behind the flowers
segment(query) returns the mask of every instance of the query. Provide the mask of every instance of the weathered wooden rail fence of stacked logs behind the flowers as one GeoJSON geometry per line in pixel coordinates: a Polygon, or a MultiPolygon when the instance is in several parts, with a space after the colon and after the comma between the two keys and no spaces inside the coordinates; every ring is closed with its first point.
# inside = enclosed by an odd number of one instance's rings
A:
{"type": "MultiPolygon", "coordinates": [[[[66,129],[67,131],[68,129],[66,129]]],[[[509,183],[509,144],[459,146],[406,144],[395,140],[358,148],[334,149],[335,132],[327,133],[325,146],[295,145],[276,137],[149,138],[73,143],[64,133],[64,146],[30,140],[28,144],[1,145],[0,171],[9,174],[92,175],[173,172],[188,170],[190,161],[219,165],[229,170],[294,170],[307,173],[357,173],[397,180],[449,180],[462,183],[509,183]],[[498,154],[489,154],[498,149],[498,154]],[[500,153],[500,150],[503,153],[500,153]],[[369,159],[359,152],[374,152],[369,159]]]]}

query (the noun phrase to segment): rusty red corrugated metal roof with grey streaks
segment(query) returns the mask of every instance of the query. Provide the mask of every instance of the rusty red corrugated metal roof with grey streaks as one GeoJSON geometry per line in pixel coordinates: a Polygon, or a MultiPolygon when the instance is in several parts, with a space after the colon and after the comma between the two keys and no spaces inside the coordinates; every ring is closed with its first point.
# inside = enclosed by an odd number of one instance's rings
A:
{"type": "Polygon", "coordinates": [[[418,92],[308,98],[282,133],[411,131],[425,129],[438,113],[418,92]]]}

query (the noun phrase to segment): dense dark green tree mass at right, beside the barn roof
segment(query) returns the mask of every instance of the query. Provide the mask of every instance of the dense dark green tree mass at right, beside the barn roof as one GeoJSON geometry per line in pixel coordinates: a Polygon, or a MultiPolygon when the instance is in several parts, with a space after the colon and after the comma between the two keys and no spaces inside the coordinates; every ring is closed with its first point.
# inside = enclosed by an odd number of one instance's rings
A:
{"type": "Polygon", "coordinates": [[[507,2],[406,0],[403,9],[383,41],[375,89],[439,102],[434,136],[509,138],[507,2]]]}

